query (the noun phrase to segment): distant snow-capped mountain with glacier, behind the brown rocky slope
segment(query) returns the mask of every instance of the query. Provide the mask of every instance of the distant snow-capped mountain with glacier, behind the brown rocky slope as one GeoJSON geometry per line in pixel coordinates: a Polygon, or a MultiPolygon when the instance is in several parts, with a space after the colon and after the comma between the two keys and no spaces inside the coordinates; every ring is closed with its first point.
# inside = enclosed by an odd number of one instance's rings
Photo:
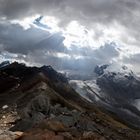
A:
{"type": "Polygon", "coordinates": [[[94,80],[72,81],[71,85],[90,102],[94,102],[126,123],[140,127],[140,78],[127,67],[111,71],[109,65],[96,66],[94,80]],[[81,84],[79,84],[81,82],[81,84]]]}

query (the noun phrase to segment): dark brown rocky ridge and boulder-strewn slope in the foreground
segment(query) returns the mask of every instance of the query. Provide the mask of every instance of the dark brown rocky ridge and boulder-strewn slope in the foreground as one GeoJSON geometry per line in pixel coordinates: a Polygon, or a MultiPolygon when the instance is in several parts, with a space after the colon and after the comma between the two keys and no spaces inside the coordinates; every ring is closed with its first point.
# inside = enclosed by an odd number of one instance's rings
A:
{"type": "Polygon", "coordinates": [[[50,66],[0,69],[0,140],[139,140],[50,66]]]}

